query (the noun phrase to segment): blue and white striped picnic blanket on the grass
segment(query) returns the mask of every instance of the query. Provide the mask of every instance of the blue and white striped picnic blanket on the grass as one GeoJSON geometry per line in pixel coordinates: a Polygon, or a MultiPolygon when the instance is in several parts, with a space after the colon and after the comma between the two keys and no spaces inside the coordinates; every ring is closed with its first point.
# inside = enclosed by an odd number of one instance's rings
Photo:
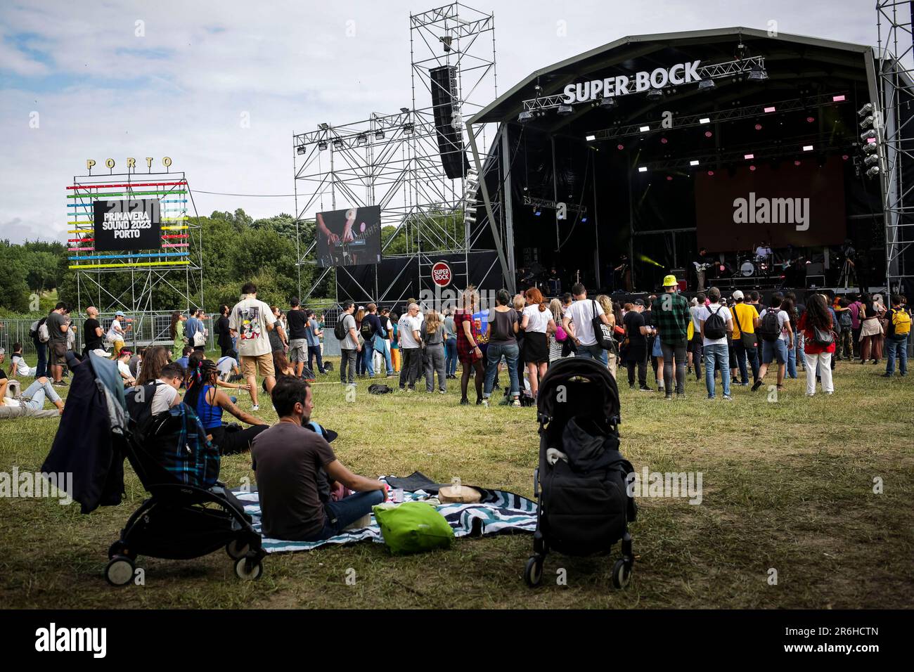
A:
{"type": "MultiPolygon", "coordinates": [[[[442,504],[438,512],[445,517],[455,537],[478,537],[491,534],[533,532],[537,528],[537,505],[525,497],[504,490],[481,489],[482,501],[478,504],[442,504]]],[[[245,513],[253,518],[253,526],[260,532],[260,499],[257,492],[235,492],[244,504],[245,513]]],[[[404,501],[422,500],[430,496],[423,490],[403,493],[404,501]]],[[[268,553],[296,550],[313,550],[328,544],[351,544],[371,539],[384,543],[375,516],[367,528],[350,529],[330,539],[321,541],[282,541],[263,539],[263,549],[268,553]]]]}

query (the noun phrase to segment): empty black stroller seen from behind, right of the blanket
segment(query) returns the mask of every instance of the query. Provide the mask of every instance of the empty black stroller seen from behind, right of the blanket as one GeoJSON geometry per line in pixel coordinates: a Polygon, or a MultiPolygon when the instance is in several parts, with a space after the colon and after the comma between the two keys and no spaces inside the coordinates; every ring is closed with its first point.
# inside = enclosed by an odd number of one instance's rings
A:
{"type": "Polygon", "coordinates": [[[622,540],[612,584],[624,588],[634,563],[628,523],[637,509],[627,487],[632,464],[619,452],[619,390],[609,369],[582,357],[551,364],[539,386],[537,420],[539,506],[527,585],[542,580],[550,549],[571,556],[608,554],[622,540]]]}

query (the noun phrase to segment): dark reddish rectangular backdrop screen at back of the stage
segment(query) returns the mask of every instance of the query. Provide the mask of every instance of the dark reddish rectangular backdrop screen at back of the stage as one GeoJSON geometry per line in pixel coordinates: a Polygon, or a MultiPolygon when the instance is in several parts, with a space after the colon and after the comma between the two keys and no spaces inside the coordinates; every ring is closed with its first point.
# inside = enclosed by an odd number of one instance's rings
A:
{"type": "Polygon", "coordinates": [[[847,233],[843,166],[830,156],[819,167],[814,156],[801,165],[784,161],[695,176],[698,246],[708,251],[839,245],[847,233]]]}

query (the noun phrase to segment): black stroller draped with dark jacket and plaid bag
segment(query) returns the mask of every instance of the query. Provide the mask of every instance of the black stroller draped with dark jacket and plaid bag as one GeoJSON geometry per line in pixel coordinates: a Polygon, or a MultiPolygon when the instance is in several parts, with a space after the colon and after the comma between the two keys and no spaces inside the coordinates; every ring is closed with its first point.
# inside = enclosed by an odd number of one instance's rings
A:
{"type": "Polygon", "coordinates": [[[125,397],[110,359],[90,354],[69,364],[73,381],[46,467],[74,473],[72,496],[83,513],[120,504],[124,457],[151,495],[108,550],[105,578],[116,586],[130,583],[140,555],[189,560],[220,547],[235,560],[239,578],[259,578],[266,555],[260,534],[218,483],[218,450],[196,413],[182,404],[152,416],[154,384],[125,397]]]}

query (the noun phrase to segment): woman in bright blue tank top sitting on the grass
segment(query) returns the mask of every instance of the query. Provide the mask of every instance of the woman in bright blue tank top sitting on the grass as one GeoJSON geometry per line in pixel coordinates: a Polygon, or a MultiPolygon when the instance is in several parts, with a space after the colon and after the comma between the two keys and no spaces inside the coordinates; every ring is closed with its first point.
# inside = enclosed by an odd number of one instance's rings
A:
{"type": "Polygon", "coordinates": [[[242,411],[228,394],[218,389],[219,371],[212,359],[201,359],[197,367],[190,372],[190,383],[184,396],[184,402],[194,411],[203,423],[210,441],[218,446],[219,453],[228,455],[250,450],[250,442],[269,425],[242,411]],[[222,424],[222,411],[228,411],[239,421],[252,425],[243,430],[228,430],[222,424]]]}

